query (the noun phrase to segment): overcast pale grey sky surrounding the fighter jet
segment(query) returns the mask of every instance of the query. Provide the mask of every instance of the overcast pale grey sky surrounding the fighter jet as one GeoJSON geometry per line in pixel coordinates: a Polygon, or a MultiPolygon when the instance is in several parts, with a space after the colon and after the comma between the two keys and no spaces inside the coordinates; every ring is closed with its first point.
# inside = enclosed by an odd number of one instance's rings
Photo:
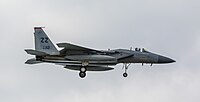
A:
{"type": "Polygon", "coordinates": [[[1,0],[1,102],[199,102],[199,0],[1,0]],[[96,49],[144,47],[177,62],[78,72],[25,65],[33,27],[54,43],[96,49]]]}

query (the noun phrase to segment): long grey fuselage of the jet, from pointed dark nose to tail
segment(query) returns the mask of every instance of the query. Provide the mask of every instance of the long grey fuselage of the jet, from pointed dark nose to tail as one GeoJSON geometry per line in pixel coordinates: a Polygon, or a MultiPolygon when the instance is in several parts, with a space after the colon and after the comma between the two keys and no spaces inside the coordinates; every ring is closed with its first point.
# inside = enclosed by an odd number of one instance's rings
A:
{"type": "Polygon", "coordinates": [[[175,62],[168,57],[154,54],[144,49],[142,51],[116,49],[110,51],[102,51],[102,53],[84,55],[45,56],[43,61],[52,63],[57,62],[74,64],[81,64],[83,61],[86,61],[89,63],[89,65],[116,65],[118,63],[163,64],[175,62]]]}

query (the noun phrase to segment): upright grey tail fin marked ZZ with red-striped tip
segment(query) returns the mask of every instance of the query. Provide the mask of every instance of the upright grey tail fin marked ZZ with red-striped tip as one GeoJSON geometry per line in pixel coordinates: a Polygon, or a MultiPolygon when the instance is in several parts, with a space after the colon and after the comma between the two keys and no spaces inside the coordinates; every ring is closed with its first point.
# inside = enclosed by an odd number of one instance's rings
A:
{"type": "Polygon", "coordinates": [[[59,55],[59,51],[56,49],[46,33],[43,31],[42,27],[34,28],[34,36],[35,50],[45,52],[50,55],[59,55]]]}

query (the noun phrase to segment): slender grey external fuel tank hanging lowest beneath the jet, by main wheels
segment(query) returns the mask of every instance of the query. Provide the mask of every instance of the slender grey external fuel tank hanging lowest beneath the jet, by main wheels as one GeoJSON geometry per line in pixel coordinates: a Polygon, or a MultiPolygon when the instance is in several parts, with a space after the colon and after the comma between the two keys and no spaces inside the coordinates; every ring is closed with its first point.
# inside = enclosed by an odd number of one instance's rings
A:
{"type": "MultiPolygon", "coordinates": [[[[80,65],[66,65],[64,68],[71,69],[71,70],[80,70],[80,65]]],[[[87,66],[87,71],[108,71],[113,70],[112,67],[107,66],[87,66]]]]}

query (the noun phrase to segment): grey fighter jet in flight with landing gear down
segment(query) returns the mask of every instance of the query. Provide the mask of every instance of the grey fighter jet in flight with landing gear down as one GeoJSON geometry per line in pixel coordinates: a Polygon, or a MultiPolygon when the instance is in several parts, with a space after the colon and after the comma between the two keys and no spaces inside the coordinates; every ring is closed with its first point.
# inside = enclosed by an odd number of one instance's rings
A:
{"type": "Polygon", "coordinates": [[[95,50],[71,43],[58,43],[58,50],[43,30],[43,27],[34,27],[35,49],[25,49],[34,55],[25,64],[53,63],[62,65],[64,68],[79,71],[79,76],[84,78],[87,71],[113,70],[112,66],[122,63],[124,73],[132,63],[143,64],[166,64],[175,60],[145,50],[144,48],[95,50]]]}

